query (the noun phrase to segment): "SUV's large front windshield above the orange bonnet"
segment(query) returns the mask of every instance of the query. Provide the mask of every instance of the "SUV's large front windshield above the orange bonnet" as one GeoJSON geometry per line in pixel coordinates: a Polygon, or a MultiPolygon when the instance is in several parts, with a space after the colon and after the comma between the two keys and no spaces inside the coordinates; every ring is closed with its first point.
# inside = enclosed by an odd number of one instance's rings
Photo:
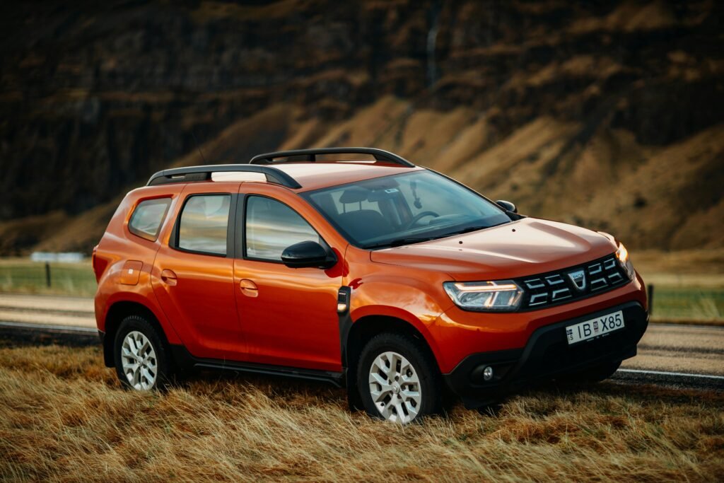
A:
{"type": "Polygon", "coordinates": [[[360,248],[407,245],[510,222],[496,204],[431,171],[377,177],[303,196],[360,248]]]}

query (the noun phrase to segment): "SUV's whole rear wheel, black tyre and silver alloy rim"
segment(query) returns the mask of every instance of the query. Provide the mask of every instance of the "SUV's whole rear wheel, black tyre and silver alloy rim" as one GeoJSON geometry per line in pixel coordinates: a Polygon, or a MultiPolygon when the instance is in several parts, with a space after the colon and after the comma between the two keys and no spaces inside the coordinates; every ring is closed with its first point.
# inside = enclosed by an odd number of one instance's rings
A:
{"type": "Polygon", "coordinates": [[[172,361],[158,331],[142,316],[122,320],[114,340],[116,373],[122,384],[139,391],[165,387],[172,361]]]}

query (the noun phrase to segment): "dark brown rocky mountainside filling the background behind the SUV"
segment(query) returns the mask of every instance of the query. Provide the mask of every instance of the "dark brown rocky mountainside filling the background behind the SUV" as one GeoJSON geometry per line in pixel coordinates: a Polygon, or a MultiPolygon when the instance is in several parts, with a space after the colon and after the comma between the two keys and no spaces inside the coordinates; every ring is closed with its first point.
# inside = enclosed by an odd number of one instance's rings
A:
{"type": "Polygon", "coordinates": [[[0,7],[0,251],[88,251],[171,164],[368,145],[639,247],[724,245],[715,1],[0,7]]]}

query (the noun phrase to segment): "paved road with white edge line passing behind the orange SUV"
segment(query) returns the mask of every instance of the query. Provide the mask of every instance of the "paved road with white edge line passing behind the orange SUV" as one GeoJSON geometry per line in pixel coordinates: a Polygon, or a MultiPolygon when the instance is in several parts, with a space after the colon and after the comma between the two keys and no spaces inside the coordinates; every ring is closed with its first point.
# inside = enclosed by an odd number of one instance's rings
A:
{"type": "MultiPolygon", "coordinates": [[[[6,340],[98,343],[93,299],[0,294],[0,335],[6,340]]],[[[639,355],[613,380],[724,390],[724,327],[649,324],[639,355]]]]}

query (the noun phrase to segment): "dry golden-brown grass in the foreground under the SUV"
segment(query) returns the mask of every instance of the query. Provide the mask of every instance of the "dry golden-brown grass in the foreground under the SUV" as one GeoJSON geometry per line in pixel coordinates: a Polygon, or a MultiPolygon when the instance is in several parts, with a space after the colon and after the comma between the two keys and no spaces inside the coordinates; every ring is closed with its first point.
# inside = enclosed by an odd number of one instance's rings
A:
{"type": "Polygon", "coordinates": [[[714,481],[724,395],[604,384],[397,427],[342,390],[195,377],[122,390],[97,348],[0,349],[4,481],[714,481]]]}

